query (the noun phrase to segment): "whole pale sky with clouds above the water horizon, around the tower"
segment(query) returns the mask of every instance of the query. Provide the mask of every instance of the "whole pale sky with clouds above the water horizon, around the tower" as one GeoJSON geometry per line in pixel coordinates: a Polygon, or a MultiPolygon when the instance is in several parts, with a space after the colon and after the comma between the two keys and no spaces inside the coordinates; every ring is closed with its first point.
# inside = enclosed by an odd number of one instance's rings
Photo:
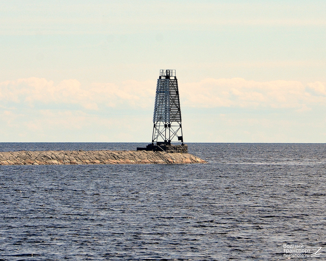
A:
{"type": "Polygon", "coordinates": [[[3,1],[0,142],[326,142],[326,1],[3,1]]]}

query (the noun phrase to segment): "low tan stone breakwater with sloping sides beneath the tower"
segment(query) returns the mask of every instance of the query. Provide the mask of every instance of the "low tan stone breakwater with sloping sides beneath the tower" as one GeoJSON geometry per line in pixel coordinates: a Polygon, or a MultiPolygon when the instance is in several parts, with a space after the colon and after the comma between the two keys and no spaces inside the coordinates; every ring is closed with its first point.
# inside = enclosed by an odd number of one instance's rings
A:
{"type": "Polygon", "coordinates": [[[153,151],[0,152],[0,165],[206,163],[188,153],[153,151]]]}

